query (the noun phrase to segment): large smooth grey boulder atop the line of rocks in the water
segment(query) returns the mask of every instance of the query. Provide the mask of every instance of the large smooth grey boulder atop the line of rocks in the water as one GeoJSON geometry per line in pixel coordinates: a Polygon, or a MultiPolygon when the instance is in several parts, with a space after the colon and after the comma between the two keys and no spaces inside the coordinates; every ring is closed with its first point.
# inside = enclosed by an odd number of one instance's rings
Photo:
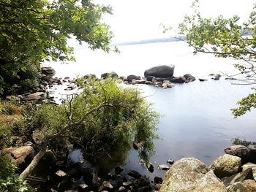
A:
{"type": "Polygon", "coordinates": [[[144,72],[144,76],[154,76],[154,77],[173,77],[174,72],[174,65],[162,65],[162,66],[155,66],[151,69],[147,69],[144,72]]]}

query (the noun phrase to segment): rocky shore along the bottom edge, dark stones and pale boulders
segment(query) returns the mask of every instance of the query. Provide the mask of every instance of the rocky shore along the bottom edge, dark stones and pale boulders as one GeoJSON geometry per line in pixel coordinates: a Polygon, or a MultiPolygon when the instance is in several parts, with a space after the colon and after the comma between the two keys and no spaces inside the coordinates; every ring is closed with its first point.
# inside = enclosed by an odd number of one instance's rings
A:
{"type": "MultiPolygon", "coordinates": [[[[30,143],[22,147],[3,150],[20,169],[25,169],[34,157],[34,148],[30,143]]],[[[106,174],[99,174],[97,167],[83,162],[64,164],[48,151],[38,166],[50,164],[48,177],[36,177],[32,174],[28,180],[31,185],[47,191],[93,192],[93,191],[207,191],[207,192],[253,192],[256,191],[256,149],[244,145],[233,145],[225,149],[210,166],[196,158],[181,158],[170,165],[159,165],[157,169],[166,170],[165,177],[154,177],[151,181],[135,170],[123,172],[116,166],[106,174]]],[[[146,165],[148,171],[154,169],[146,165]]]]}

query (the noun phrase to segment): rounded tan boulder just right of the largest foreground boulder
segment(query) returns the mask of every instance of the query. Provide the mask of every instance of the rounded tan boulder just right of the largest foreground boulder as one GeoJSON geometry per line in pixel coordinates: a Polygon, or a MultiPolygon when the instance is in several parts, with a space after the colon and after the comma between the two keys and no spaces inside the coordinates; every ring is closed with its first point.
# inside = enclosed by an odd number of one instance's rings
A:
{"type": "Polygon", "coordinates": [[[217,177],[229,177],[241,170],[241,158],[233,155],[222,155],[214,161],[210,169],[214,170],[217,177]]]}

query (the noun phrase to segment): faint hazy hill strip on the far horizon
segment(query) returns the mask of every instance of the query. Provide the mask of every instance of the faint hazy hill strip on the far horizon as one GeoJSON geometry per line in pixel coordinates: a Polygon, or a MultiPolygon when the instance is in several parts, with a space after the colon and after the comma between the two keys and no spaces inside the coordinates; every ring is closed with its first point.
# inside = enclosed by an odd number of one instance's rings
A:
{"type": "Polygon", "coordinates": [[[115,45],[117,46],[125,46],[125,45],[140,45],[140,44],[149,44],[149,43],[159,43],[159,42],[179,42],[184,41],[186,37],[167,37],[167,38],[158,38],[158,39],[145,39],[140,41],[132,41],[132,42],[121,42],[115,45]]]}

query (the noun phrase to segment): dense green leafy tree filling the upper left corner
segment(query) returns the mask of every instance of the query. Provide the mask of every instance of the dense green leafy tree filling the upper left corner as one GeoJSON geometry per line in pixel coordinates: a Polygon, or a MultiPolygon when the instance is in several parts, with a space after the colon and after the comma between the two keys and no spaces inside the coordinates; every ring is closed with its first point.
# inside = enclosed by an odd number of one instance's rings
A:
{"type": "Polygon", "coordinates": [[[69,38],[110,51],[105,13],[111,8],[91,0],[1,0],[0,93],[14,84],[35,85],[44,60],[74,60],[69,38]]]}

